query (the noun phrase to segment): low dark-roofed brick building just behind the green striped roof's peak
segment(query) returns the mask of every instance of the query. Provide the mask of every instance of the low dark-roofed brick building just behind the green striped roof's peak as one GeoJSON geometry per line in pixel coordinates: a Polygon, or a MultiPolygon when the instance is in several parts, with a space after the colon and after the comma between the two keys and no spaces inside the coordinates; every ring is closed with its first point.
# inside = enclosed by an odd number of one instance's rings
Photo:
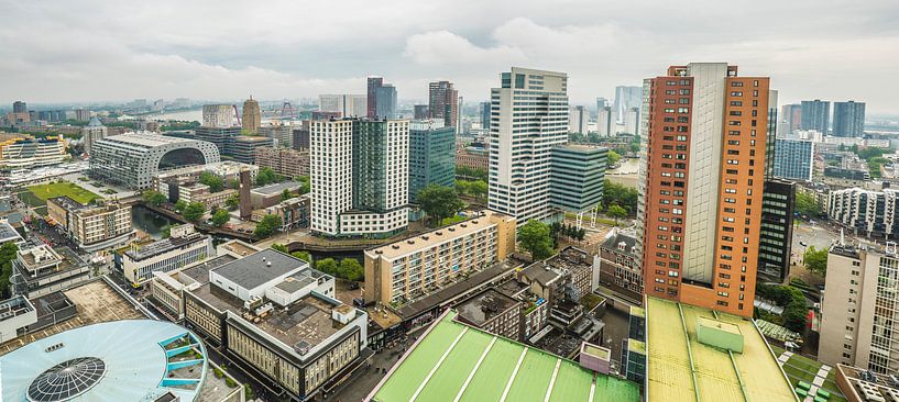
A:
{"type": "Polygon", "coordinates": [[[456,305],[457,321],[491,334],[522,340],[522,303],[495,289],[487,289],[456,305]]]}

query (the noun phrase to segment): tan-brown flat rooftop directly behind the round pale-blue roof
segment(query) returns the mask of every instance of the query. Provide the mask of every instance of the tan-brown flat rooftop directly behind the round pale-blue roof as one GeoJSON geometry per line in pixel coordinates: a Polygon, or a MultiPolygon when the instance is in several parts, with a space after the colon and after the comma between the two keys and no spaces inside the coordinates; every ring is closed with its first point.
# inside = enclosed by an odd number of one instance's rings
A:
{"type": "Polygon", "coordinates": [[[63,294],[76,306],[77,313],[74,317],[0,345],[0,356],[34,340],[68,330],[109,321],[146,319],[134,304],[131,304],[103,280],[84,283],[64,291],[63,294]]]}

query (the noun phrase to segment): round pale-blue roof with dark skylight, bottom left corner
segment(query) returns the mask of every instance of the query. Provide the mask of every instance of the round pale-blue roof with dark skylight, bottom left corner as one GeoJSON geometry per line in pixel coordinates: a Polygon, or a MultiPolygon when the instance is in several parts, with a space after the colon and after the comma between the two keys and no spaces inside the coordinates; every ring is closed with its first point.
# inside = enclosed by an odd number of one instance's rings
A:
{"type": "Polygon", "coordinates": [[[194,333],[169,322],[83,326],[0,357],[0,400],[155,401],[172,393],[195,401],[207,369],[205,356],[194,333]],[[190,348],[202,356],[183,354],[190,348]]]}

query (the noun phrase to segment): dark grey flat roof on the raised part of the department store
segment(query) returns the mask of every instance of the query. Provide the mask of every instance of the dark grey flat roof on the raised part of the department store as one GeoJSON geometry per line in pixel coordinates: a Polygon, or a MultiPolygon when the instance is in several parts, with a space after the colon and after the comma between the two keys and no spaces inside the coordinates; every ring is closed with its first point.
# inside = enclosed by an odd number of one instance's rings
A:
{"type": "Polygon", "coordinates": [[[216,269],[216,273],[246,289],[268,282],[279,276],[308,267],[309,264],[271,248],[235,259],[216,269]]]}

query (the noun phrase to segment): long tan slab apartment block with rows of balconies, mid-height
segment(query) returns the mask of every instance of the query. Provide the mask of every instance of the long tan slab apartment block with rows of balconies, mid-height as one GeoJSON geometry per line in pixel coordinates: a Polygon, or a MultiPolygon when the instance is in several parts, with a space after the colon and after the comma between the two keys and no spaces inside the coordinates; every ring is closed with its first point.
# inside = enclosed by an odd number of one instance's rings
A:
{"type": "Polygon", "coordinates": [[[474,219],[365,250],[365,298],[384,304],[414,301],[514,252],[515,219],[484,211],[474,219]]]}

